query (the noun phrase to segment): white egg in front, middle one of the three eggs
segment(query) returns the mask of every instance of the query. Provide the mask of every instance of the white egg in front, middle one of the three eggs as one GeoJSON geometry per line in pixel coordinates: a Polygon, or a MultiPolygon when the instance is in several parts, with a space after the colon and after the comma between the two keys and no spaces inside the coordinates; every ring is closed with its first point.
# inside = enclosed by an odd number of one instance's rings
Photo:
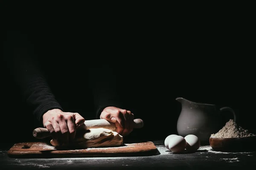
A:
{"type": "Polygon", "coordinates": [[[186,140],[182,136],[174,136],[169,140],[169,149],[173,153],[179,153],[186,148],[186,140]]]}

